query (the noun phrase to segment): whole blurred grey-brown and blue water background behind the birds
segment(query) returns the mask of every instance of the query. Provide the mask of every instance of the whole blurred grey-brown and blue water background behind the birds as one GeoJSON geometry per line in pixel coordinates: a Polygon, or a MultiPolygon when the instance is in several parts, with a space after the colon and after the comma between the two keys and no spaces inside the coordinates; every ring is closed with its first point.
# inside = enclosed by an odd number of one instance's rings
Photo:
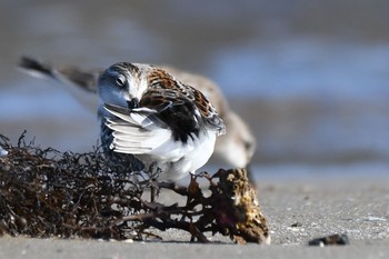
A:
{"type": "Polygon", "coordinates": [[[96,116],[59,84],[14,69],[21,54],[88,68],[168,63],[220,84],[255,130],[256,163],[389,169],[388,3],[0,4],[0,133],[14,141],[24,129],[60,150],[98,139],[96,116]]]}

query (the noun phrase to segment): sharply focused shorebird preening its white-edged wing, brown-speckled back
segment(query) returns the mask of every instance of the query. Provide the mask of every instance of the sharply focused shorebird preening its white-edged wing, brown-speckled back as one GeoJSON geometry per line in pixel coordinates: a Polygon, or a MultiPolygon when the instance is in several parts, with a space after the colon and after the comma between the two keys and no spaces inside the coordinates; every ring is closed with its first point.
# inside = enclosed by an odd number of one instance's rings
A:
{"type": "Polygon", "coordinates": [[[98,116],[107,152],[133,155],[159,179],[194,175],[226,131],[197,89],[150,64],[119,62],[98,79],[98,116]]]}

